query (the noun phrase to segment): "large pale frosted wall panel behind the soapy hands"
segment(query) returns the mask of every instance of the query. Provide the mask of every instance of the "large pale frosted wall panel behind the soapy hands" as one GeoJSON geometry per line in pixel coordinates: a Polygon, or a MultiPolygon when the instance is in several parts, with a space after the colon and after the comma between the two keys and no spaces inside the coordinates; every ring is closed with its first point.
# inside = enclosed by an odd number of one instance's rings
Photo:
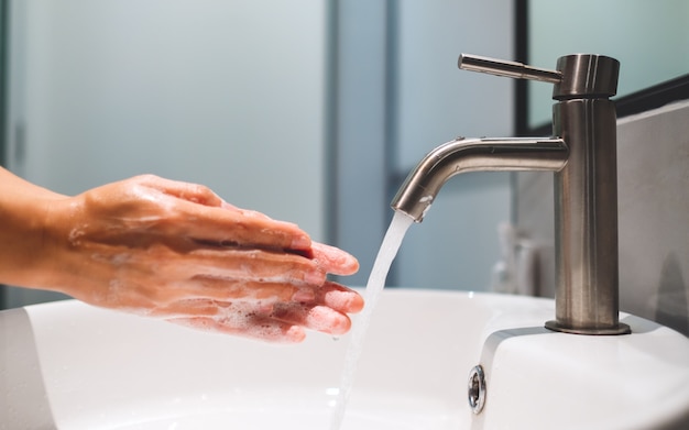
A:
{"type": "MultiPolygon", "coordinates": [[[[64,194],[153,173],[325,236],[326,1],[22,0],[9,167],[64,194]]],[[[12,290],[8,306],[50,299],[12,290]]]]}

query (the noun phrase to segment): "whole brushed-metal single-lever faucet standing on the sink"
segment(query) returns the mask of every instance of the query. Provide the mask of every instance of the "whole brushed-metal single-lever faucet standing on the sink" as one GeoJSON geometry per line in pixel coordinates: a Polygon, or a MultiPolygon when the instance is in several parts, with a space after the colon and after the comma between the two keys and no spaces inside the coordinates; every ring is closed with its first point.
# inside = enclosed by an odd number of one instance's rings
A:
{"type": "Polygon", "coordinates": [[[550,170],[555,181],[555,320],[577,334],[627,334],[620,322],[616,93],[620,63],[575,54],[556,70],[462,54],[459,68],[555,84],[551,137],[458,137],[430,151],[391,206],[420,222],[442,185],[477,170],[550,170]]]}

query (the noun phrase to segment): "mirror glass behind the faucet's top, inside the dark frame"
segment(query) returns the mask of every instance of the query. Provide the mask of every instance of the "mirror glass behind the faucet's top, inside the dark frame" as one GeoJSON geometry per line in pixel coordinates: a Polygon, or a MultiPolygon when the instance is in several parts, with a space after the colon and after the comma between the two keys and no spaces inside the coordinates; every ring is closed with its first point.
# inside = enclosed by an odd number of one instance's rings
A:
{"type": "MultiPolygon", "coordinates": [[[[558,57],[591,53],[621,63],[615,99],[689,74],[685,0],[528,0],[527,62],[555,68],[558,57]]],[[[527,126],[550,123],[553,86],[527,82],[527,126]]]]}

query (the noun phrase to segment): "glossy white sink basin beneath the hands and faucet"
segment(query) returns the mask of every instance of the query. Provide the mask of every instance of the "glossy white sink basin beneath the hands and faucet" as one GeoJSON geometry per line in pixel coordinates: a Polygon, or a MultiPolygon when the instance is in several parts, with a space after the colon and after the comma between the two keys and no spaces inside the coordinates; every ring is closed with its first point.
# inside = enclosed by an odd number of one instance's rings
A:
{"type": "MultiPolygon", "coordinates": [[[[554,315],[545,299],[383,291],[343,429],[689,428],[686,337],[626,315],[631,335],[555,333],[554,315]]],[[[76,301],[4,311],[0,429],[328,429],[348,342],[263,344],[76,301]]]]}

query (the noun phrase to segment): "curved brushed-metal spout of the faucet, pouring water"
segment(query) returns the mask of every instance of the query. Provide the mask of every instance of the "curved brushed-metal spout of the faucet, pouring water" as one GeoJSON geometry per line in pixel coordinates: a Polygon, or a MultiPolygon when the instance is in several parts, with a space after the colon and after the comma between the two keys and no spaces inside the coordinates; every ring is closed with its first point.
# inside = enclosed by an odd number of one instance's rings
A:
{"type": "Polygon", "coordinates": [[[468,172],[550,170],[567,164],[558,137],[458,137],[429,152],[407,176],[391,206],[420,222],[445,183],[468,172]]]}

